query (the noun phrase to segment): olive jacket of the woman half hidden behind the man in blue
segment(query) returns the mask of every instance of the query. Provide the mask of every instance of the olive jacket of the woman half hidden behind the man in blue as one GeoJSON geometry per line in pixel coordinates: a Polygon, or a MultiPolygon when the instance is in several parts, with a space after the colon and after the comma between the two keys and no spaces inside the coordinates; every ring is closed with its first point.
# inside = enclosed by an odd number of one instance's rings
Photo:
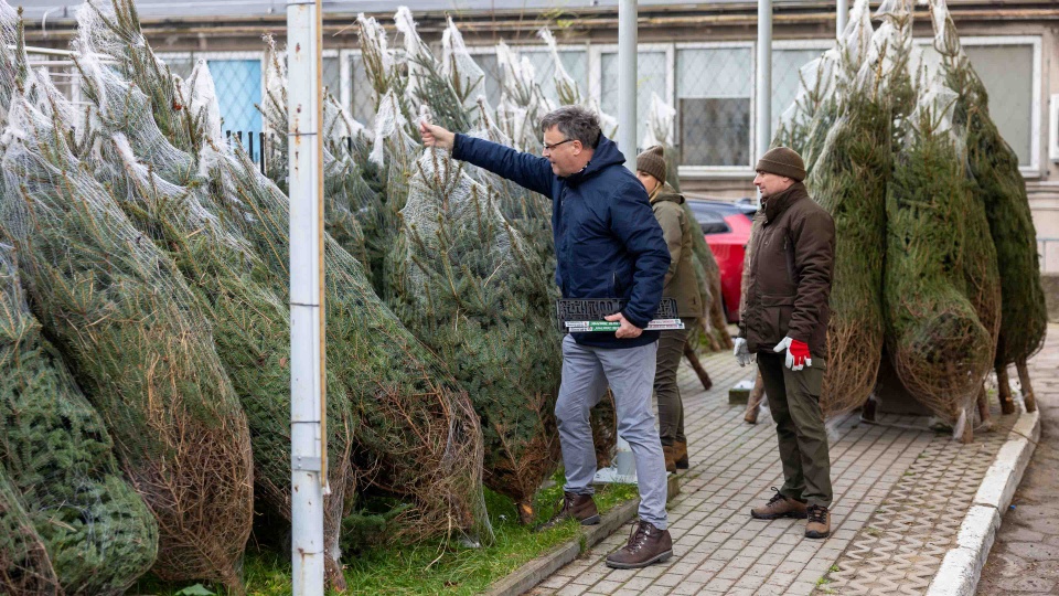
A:
{"type": "Polygon", "coordinates": [[[668,184],[651,195],[651,209],[670,247],[670,269],[665,272],[662,297],[676,300],[677,315],[681,317],[698,318],[703,316],[703,297],[692,264],[695,252],[692,234],[700,234],[702,227],[688,220],[681,206],[683,203],[684,196],[668,184]]]}

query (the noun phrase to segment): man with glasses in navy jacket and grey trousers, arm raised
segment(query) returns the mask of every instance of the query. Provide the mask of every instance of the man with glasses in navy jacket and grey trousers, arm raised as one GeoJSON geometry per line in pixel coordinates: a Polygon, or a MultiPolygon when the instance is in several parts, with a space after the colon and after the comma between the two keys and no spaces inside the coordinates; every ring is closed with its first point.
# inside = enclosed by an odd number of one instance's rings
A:
{"type": "Polygon", "coordinates": [[[541,123],[544,157],[482,139],[420,125],[428,147],[452,152],[552,200],[555,281],[564,298],[623,298],[625,308],[607,317],[613,333],[570,333],[563,340],[563,383],[555,415],[566,468],[563,507],[545,525],[576,519],[599,523],[592,500],[596,449],[589,411],[613,391],[618,433],[632,447],[640,488],[640,522],[629,543],[607,557],[618,568],[667,560],[673,542],[666,528],[665,460],[654,427],[657,331],[644,331],[657,312],[670,249],[643,184],[624,168],[625,158],[602,136],[599,118],[579,106],[564,106],[541,123]]]}

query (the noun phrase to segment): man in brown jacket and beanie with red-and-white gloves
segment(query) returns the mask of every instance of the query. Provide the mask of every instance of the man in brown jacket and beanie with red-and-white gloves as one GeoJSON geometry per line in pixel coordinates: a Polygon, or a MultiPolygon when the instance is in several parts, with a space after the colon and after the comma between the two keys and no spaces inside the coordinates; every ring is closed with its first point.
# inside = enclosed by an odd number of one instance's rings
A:
{"type": "Polygon", "coordinates": [[[747,251],[747,287],[736,339],[740,365],[757,356],[783,462],[783,488],[750,514],[807,519],[805,536],[831,533],[831,459],[820,411],[831,310],[835,224],[802,180],[805,166],[778,147],[758,161],[761,191],[747,251]]]}

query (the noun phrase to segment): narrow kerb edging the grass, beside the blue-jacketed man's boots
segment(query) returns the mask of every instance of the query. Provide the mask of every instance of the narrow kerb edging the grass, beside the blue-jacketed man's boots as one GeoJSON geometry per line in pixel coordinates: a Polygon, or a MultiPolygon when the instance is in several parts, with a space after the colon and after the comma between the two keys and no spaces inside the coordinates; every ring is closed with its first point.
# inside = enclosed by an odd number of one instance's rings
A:
{"type": "Polygon", "coordinates": [[[591,549],[605,538],[613,534],[619,528],[637,517],[640,499],[633,499],[607,512],[597,525],[588,525],[574,540],[560,544],[525,565],[515,573],[494,583],[485,592],[489,596],[518,596],[533,589],[549,575],[563,568],[564,565],[577,558],[579,554],[591,549]]]}

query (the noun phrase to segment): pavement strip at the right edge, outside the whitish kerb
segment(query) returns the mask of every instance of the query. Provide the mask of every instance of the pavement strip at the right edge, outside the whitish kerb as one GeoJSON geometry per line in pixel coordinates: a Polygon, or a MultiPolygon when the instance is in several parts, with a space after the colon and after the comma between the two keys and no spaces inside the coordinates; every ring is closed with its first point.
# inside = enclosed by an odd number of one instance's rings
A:
{"type": "Polygon", "coordinates": [[[1059,324],[1030,361],[1040,441],[982,571],[978,594],[1059,594],[1059,324]]]}

